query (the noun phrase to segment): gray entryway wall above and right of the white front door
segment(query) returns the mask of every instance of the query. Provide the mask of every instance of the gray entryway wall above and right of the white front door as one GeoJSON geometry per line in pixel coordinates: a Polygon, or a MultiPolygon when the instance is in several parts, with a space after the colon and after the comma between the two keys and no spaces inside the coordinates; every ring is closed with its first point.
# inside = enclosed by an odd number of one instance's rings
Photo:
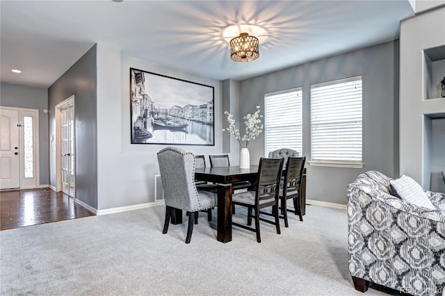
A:
{"type": "Polygon", "coordinates": [[[48,90],[31,86],[1,83],[0,106],[39,110],[39,174],[40,184],[49,184],[48,90]]]}

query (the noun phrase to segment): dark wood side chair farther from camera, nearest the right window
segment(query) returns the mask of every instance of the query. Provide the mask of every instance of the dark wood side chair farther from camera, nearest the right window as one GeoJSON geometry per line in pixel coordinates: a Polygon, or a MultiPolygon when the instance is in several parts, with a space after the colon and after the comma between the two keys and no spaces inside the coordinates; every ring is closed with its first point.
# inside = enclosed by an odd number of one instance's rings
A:
{"type": "Polygon", "coordinates": [[[284,219],[284,226],[289,227],[287,220],[287,212],[293,212],[303,220],[301,213],[302,198],[301,198],[301,182],[303,179],[303,169],[305,168],[306,156],[287,158],[286,174],[284,174],[283,185],[280,185],[280,207],[282,210],[282,218],[284,219]],[[287,199],[293,200],[294,210],[287,208],[287,199]]]}

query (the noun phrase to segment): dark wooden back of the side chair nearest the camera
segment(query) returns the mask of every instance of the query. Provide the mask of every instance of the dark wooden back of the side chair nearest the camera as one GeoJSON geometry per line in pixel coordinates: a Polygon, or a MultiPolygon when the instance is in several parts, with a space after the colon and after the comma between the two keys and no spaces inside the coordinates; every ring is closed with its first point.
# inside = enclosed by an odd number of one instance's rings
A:
{"type": "Polygon", "coordinates": [[[256,204],[266,199],[270,199],[270,202],[278,199],[282,169],[283,158],[259,159],[256,204]]]}

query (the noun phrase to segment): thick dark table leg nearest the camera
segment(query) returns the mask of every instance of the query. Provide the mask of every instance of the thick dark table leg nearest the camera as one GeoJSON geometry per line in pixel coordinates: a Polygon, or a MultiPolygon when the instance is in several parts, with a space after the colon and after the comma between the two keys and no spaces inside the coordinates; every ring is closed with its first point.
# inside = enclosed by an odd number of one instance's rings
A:
{"type": "Polygon", "coordinates": [[[218,224],[216,238],[232,241],[232,184],[218,184],[218,224]]]}

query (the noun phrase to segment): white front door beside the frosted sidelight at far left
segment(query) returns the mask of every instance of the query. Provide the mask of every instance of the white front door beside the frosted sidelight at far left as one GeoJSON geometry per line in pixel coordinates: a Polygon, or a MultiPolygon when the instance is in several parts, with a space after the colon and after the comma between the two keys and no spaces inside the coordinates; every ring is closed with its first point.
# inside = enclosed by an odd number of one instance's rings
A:
{"type": "Polygon", "coordinates": [[[0,108],[0,189],[20,188],[19,110],[0,108]]]}

